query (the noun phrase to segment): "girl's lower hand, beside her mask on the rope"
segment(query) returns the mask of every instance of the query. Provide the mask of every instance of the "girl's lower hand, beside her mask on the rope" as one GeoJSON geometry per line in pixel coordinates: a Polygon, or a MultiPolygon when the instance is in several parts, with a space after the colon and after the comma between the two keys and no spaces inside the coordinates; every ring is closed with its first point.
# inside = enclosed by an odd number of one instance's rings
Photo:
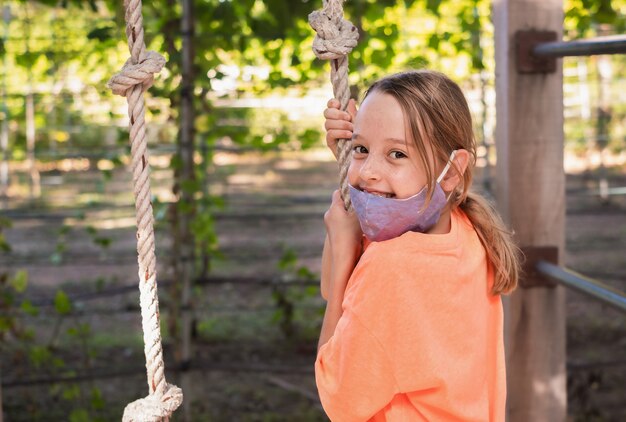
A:
{"type": "Polygon", "coordinates": [[[333,262],[346,260],[355,264],[361,255],[363,232],[354,211],[345,210],[339,190],[333,192],[330,208],[324,214],[324,223],[333,262]]]}

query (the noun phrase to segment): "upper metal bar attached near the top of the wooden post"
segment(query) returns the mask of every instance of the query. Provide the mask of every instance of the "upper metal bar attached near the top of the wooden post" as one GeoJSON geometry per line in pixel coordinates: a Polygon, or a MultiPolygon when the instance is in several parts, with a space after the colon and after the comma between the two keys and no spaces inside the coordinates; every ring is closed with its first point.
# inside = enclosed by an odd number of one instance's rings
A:
{"type": "Polygon", "coordinates": [[[532,54],[535,56],[546,57],[624,53],[626,53],[626,35],[611,35],[567,42],[546,42],[537,44],[532,50],[532,54]]]}

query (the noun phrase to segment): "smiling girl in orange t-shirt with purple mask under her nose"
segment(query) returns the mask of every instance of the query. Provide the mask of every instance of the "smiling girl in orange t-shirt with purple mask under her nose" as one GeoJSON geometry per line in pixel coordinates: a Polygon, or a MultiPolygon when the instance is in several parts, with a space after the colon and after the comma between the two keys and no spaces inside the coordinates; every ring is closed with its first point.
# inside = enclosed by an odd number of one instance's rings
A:
{"type": "Polygon", "coordinates": [[[500,294],[518,252],[468,192],[475,141],[458,85],[433,71],[374,83],[356,113],[325,110],[352,139],[354,211],[324,217],[327,300],[315,375],[333,421],[504,421],[500,294]]]}

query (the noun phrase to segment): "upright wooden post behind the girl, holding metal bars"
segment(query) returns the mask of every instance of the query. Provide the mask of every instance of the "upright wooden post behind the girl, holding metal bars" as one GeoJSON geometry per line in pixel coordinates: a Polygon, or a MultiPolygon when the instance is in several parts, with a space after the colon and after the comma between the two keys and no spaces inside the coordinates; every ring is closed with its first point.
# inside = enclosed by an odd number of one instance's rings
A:
{"type": "MultiPolygon", "coordinates": [[[[520,74],[515,56],[518,30],[555,31],[561,38],[562,0],[494,0],[493,6],[498,207],[521,247],[531,254],[556,247],[562,258],[562,64],[553,73],[520,74]]],[[[540,282],[532,276],[525,281],[540,282]]],[[[519,288],[506,298],[505,343],[508,420],[565,421],[563,288],[519,288]]]]}

